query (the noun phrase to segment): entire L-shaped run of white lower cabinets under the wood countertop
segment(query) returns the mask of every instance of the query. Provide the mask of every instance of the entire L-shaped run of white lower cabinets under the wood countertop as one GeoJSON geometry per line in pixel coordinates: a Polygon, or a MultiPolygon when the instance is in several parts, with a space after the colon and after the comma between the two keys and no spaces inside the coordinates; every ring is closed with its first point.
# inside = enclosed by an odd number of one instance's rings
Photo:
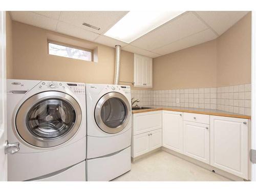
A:
{"type": "Polygon", "coordinates": [[[164,146],[249,179],[248,119],[174,111],[134,115],[132,157],[164,146]]]}

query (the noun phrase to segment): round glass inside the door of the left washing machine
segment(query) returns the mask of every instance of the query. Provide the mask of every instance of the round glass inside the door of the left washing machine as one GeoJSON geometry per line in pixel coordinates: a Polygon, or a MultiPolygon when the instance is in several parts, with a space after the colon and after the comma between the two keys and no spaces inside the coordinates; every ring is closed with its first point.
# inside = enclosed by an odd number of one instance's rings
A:
{"type": "Polygon", "coordinates": [[[35,137],[56,139],[72,129],[75,119],[75,110],[67,101],[47,99],[31,108],[26,123],[35,137]]]}

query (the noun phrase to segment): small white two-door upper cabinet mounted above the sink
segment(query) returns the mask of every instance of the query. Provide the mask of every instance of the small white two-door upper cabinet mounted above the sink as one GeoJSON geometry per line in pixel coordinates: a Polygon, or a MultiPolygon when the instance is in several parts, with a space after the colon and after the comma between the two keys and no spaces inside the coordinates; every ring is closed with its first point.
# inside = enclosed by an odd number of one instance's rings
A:
{"type": "Polygon", "coordinates": [[[134,54],[134,86],[153,87],[152,58],[134,54]]]}

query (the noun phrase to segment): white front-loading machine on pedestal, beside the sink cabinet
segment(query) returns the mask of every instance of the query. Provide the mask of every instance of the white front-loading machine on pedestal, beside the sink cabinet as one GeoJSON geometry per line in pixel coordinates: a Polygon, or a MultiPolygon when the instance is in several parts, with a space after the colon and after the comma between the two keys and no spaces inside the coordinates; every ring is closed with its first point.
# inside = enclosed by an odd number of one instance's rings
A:
{"type": "Polygon", "coordinates": [[[86,84],[87,180],[110,181],[131,170],[130,86],[86,84]]]}

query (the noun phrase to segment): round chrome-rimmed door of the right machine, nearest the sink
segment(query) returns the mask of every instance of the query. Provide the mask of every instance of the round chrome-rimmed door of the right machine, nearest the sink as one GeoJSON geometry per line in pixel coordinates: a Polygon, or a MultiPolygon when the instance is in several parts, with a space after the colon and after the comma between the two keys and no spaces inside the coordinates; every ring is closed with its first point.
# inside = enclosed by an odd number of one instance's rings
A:
{"type": "Polygon", "coordinates": [[[103,95],[96,104],[94,117],[99,128],[106,133],[122,131],[131,117],[131,105],[120,93],[103,95]]]}

